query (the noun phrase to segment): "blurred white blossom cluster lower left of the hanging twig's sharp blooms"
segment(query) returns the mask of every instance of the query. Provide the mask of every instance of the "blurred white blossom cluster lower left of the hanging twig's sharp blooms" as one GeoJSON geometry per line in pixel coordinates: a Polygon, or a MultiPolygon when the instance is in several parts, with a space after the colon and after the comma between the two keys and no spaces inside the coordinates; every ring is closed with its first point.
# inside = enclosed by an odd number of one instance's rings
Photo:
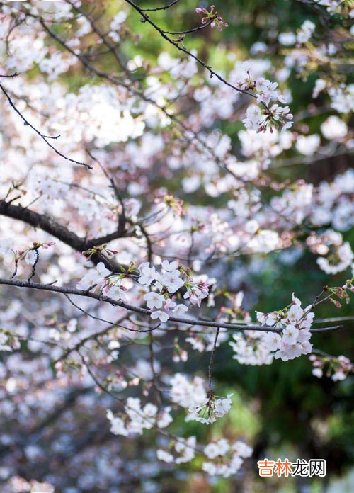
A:
{"type": "Polygon", "coordinates": [[[110,421],[110,431],[114,435],[130,436],[135,433],[142,435],[144,429],[169,426],[173,421],[170,411],[171,407],[165,407],[159,412],[159,409],[151,402],[142,407],[139,398],[128,397],[125,403],[126,419],[115,416],[110,409],[107,410],[107,418],[110,421]]]}

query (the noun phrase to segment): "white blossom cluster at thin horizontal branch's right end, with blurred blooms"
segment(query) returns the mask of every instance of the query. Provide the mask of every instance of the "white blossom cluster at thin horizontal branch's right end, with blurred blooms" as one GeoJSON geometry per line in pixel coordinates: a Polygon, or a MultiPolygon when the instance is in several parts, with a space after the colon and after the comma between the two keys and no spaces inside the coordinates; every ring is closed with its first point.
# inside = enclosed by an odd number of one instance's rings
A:
{"type": "Polygon", "coordinates": [[[301,307],[299,298],[292,295],[292,304],[288,310],[279,312],[256,312],[261,325],[281,329],[278,332],[245,331],[235,334],[230,346],[235,351],[234,359],[246,365],[267,365],[273,358],[288,361],[312,351],[311,332],[309,331],[314,313],[312,305],[301,307]]]}

